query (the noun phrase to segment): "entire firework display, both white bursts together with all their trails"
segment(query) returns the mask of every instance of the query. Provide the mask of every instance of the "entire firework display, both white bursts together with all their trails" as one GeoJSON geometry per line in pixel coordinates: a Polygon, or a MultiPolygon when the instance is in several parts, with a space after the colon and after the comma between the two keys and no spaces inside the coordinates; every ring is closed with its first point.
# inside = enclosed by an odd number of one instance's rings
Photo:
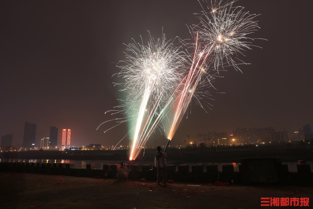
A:
{"type": "Polygon", "coordinates": [[[136,159],[156,128],[167,129],[171,140],[192,97],[203,107],[201,100],[210,96],[208,87],[218,76],[219,67],[240,70],[238,65],[244,62],[236,62],[236,56],[251,49],[249,41],[253,39],[247,35],[259,27],[253,20],[256,15],[234,7],[233,2],[212,1],[207,9],[202,7],[200,24],[191,27],[195,40],[191,55],[182,53],[183,44],[175,47],[164,35],[157,41],[150,37],[147,45],[142,40],[142,44],[127,45],[126,59],[120,62],[125,65],[120,65],[121,71],[116,74],[125,82],[115,84],[122,86],[120,91],[126,96],[120,100],[119,110],[112,113],[125,117],[109,121],[117,120],[119,125],[132,120],[130,159],[136,159]],[[172,117],[167,117],[169,111],[174,112],[172,117]],[[169,127],[162,125],[164,118],[170,122],[169,127]]]}

